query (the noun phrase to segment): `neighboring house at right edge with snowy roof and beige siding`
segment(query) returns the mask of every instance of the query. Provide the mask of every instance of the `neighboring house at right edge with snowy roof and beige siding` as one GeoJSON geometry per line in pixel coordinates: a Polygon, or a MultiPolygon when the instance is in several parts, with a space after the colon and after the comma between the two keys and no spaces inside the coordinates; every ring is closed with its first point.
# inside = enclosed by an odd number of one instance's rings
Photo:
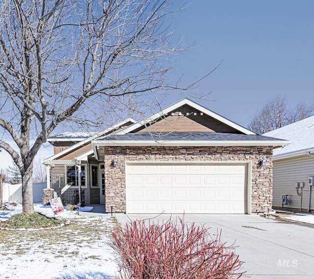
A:
{"type": "Polygon", "coordinates": [[[282,207],[288,195],[284,207],[314,210],[314,116],[263,135],[292,141],[273,151],[273,206],[282,207]]]}

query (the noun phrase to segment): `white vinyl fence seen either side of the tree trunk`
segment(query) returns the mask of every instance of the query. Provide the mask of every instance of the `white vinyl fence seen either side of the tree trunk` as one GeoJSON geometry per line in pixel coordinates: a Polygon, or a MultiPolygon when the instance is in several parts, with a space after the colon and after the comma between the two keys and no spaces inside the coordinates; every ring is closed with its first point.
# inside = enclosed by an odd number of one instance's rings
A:
{"type": "MultiPolygon", "coordinates": [[[[33,200],[42,202],[44,189],[47,188],[46,182],[33,183],[33,200]]],[[[22,203],[22,184],[11,185],[3,183],[3,202],[12,201],[22,203]]]]}

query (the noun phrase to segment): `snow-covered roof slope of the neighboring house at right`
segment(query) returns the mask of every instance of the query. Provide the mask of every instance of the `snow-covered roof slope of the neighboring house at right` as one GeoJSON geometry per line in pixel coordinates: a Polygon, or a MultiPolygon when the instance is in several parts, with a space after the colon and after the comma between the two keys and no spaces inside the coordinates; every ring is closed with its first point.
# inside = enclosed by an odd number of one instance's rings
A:
{"type": "Polygon", "coordinates": [[[314,116],[294,122],[285,127],[270,131],[263,136],[291,140],[292,143],[284,148],[276,148],[274,157],[292,154],[301,150],[314,148],[314,116]]]}

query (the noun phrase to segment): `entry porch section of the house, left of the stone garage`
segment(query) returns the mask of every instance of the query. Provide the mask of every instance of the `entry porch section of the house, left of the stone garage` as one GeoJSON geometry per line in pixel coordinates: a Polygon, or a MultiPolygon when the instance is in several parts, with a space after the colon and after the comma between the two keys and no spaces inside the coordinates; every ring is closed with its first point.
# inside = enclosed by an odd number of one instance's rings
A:
{"type": "Polygon", "coordinates": [[[104,172],[104,164],[95,159],[91,140],[133,123],[135,120],[128,118],[99,133],[63,133],[49,137],[48,142],[53,145],[54,155],[44,161],[48,188],[53,189],[64,203],[76,204],[78,196],[81,200],[81,192],[84,193],[83,203],[105,203],[105,196],[101,195],[99,189],[99,176],[104,172]],[[78,191],[78,188],[82,191],[78,191]]]}

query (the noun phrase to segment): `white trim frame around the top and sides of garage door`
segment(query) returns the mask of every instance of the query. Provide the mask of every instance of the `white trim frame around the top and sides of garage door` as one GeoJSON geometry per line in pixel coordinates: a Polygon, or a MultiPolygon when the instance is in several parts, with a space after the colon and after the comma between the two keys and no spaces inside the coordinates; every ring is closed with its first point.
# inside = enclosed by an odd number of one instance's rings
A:
{"type": "MultiPolygon", "coordinates": [[[[127,175],[128,175],[128,165],[141,165],[141,164],[146,164],[146,165],[154,165],[154,164],[160,164],[160,165],[165,165],[165,164],[177,164],[177,165],[196,165],[196,164],[223,164],[223,165],[246,165],[247,167],[247,213],[248,215],[252,214],[252,161],[125,161],[125,180],[126,180],[126,202],[128,200],[128,186],[127,186],[127,175]]],[[[126,209],[128,207],[126,206],[126,209]]],[[[126,212],[128,214],[128,212],[126,212]]]]}

